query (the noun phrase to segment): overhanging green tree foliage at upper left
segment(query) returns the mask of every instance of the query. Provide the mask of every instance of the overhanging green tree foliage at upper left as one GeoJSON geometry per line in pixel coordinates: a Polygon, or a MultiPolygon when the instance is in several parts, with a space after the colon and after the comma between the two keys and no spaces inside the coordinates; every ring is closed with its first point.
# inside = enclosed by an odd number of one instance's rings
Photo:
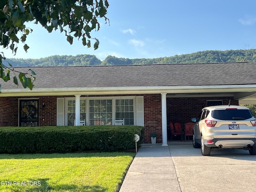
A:
{"type": "MultiPolygon", "coordinates": [[[[94,39],[94,50],[99,46],[99,40],[92,38],[90,32],[98,31],[100,23],[97,18],[106,18],[107,0],[0,0],[0,45],[10,48],[14,54],[17,44],[22,42],[25,52],[29,46],[26,38],[33,30],[25,23],[34,21],[41,24],[49,33],[60,29],[66,40],[72,44],[73,38],[82,38],[82,44],[91,47],[90,39],[94,39]]],[[[7,82],[10,72],[15,72],[10,62],[3,63],[6,58],[0,54],[0,78],[7,82]]],[[[19,72],[18,78],[24,88],[33,88],[36,73],[32,70],[19,72]]],[[[18,85],[18,78],[14,74],[14,83],[18,85]]],[[[1,85],[0,85],[1,88],[1,85]]]]}

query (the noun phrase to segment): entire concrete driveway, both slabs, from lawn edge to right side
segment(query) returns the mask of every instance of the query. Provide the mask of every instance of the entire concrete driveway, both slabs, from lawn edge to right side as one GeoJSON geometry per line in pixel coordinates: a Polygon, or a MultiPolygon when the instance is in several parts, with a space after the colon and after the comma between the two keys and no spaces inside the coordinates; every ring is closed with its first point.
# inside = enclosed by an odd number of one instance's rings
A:
{"type": "Polygon", "coordinates": [[[256,156],[216,150],[202,156],[192,142],[138,150],[120,192],[256,192],[256,156]]]}

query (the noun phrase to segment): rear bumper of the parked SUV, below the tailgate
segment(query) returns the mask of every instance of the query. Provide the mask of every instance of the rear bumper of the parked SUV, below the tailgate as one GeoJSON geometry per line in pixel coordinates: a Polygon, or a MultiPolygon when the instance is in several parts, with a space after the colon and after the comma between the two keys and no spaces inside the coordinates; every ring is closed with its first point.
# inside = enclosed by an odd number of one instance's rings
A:
{"type": "Polygon", "coordinates": [[[256,146],[256,138],[226,138],[226,139],[213,139],[212,143],[204,140],[205,146],[218,147],[218,148],[244,148],[249,146],[256,146]]]}

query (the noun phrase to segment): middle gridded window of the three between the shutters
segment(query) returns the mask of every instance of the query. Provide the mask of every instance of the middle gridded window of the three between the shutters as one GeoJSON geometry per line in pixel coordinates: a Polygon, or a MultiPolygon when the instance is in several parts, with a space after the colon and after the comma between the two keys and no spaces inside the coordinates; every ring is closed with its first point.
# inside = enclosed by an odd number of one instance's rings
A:
{"type": "Polygon", "coordinates": [[[112,99],[89,100],[90,125],[112,124],[112,99]]]}

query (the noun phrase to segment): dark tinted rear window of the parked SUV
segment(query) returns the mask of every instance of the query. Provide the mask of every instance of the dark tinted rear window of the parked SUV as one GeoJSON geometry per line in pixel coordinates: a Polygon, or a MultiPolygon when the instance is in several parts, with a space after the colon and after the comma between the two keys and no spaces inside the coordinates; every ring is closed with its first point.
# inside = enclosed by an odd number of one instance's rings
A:
{"type": "Polygon", "coordinates": [[[212,118],[219,120],[245,120],[252,117],[252,113],[248,109],[224,109],[212,111],[212,118]]]}

